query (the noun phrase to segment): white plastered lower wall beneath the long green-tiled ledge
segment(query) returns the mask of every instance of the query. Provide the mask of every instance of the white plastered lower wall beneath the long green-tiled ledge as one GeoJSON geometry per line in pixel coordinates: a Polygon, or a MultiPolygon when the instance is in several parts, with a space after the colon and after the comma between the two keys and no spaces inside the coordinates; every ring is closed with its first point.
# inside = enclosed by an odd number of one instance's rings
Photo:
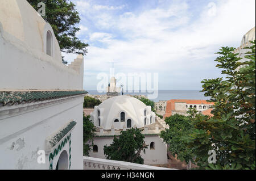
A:
{"type": "MultiPolygon", "coordinates": [[[[37,151],[45,150],[46,138],[71,120],[77,122],[71,132],[71,169],[82,169],[83,100],[83,96],[78,96],[67,102],[0,119],[0,169],[49,169],[49,155],[46,155],[45,164],[39,164],[37,151]]],[[[63,150],[69,153],[69,143],[53,159],[53,169],[63,150]]]]}

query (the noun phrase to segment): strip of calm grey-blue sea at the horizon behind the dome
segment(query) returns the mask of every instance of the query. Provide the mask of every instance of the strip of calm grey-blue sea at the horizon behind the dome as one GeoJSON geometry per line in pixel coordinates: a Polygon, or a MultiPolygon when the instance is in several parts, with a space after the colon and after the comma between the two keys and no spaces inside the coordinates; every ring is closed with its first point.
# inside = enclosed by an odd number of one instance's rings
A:
{"type": "MultiPolygon", "coordinates": [[[[88,90],[88,94],[91,95],[103,95],[104,92],[99,93],[97,90],[88,90]]],[[[146,92],[125,92],[124,95],[148,95],[146,92]]],[[[159,90],[158,98],[151,99],[154,102],[159,102],[159,100],[170,100],[170,99],[209,99],[209,97],[204,96],[204,92],[199,90],[159,90]]]]}

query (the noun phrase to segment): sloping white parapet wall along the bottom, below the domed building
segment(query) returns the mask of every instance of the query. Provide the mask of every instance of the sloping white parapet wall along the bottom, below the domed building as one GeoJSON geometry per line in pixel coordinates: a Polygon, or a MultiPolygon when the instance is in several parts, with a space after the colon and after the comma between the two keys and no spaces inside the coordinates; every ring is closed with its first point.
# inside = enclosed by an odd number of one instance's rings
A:
{"type": "Polygon", "coordinates": [[[83,157],[83,160],[84,170],[176,170],[94,157],[83,157]]]}

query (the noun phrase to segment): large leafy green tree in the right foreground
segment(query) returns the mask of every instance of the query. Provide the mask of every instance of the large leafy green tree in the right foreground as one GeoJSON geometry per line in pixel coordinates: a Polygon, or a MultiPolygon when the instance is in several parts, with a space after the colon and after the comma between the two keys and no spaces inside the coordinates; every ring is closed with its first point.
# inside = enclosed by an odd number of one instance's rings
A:
{"type": "Polygon", "coordinates": [[[245,62],[234,48],[222,47],[215,61],[225,78],[201,82],[208,101],[215,102],[213,117],[191,116],[187,141],[201,169],[255,169],[255,40],[251,43],[245,62]],[[216,151],[216,164],[208,163],[209,150],[216,151]]]}

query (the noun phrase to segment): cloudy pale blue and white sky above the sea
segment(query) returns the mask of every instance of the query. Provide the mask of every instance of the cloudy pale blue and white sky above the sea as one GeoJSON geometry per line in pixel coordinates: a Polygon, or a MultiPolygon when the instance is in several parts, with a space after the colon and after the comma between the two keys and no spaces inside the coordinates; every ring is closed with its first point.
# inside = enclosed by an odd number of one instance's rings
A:
{"type": "MultiPolygon", "coordinates": [[[[214,52],[240,46],[255,26],[255,0],[72,0],[77,36],[88,43],[84,89],[96,90],[98,73],[159,73],[159,90],[201,90],[220,77],[214,52]]],[[[64,54],[68,62],[76,54],[64,54]]]]}

